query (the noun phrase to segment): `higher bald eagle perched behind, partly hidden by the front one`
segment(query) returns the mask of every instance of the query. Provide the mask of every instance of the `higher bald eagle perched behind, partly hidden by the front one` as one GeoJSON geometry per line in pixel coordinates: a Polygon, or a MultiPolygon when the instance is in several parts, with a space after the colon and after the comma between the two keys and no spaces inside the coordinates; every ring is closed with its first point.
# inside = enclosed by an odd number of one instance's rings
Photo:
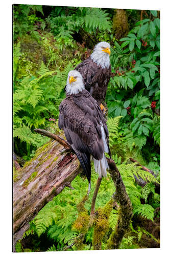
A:
{"type": "Polygon", "coordinates": [[[84,79],[85,89],[98,101],[101,109],[106,111],[103,104],[106,98],[107,85],[111,76],[110,45],[99,42],[92,54],[81,62],[75,70],[84,79]]]}

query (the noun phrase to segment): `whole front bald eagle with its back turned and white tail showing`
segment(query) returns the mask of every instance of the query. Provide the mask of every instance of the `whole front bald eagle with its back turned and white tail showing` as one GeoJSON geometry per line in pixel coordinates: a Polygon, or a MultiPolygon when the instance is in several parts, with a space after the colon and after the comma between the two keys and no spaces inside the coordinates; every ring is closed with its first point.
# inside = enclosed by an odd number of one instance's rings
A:
{"type": "Polygon", "coordinates": [[[100,177],[107,174],[105,152],[110,155],[110,148],[106,120],[99,104],[85,90],[83,77],[78,71],[68,73],[65,90],[66,98],[59,106],[59,129],[64,130],[90,183],[90,156],[94,161],[95,172],[100,177]]]}

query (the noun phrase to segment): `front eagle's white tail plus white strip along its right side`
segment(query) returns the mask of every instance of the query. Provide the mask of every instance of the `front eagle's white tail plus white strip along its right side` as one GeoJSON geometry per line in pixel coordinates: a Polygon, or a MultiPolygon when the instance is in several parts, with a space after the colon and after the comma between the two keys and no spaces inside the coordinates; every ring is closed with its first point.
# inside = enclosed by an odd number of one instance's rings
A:
{"type": "MultiPolygon", "coordinates": [[[[106,142],[106,135],[105,135],[105,131],[103,128],[103,124],[101,122],[101,130],[102,130],[102,139],[103,139],[103,143],[104,143],[104,148],[105,148],[105,152],[108,153],[109,149],[107,146],[107,142],[106,142]]],[[[95,172],[99,174],[99,177],[102,178],[106,177],[107,172],[106,169],[109,168],[106,157],[105,157],[105,153],[103,154],[103,158],[101,160],[96,160],[93,158],[94,161],[94,168],[95,168],[95,172]]]]}

